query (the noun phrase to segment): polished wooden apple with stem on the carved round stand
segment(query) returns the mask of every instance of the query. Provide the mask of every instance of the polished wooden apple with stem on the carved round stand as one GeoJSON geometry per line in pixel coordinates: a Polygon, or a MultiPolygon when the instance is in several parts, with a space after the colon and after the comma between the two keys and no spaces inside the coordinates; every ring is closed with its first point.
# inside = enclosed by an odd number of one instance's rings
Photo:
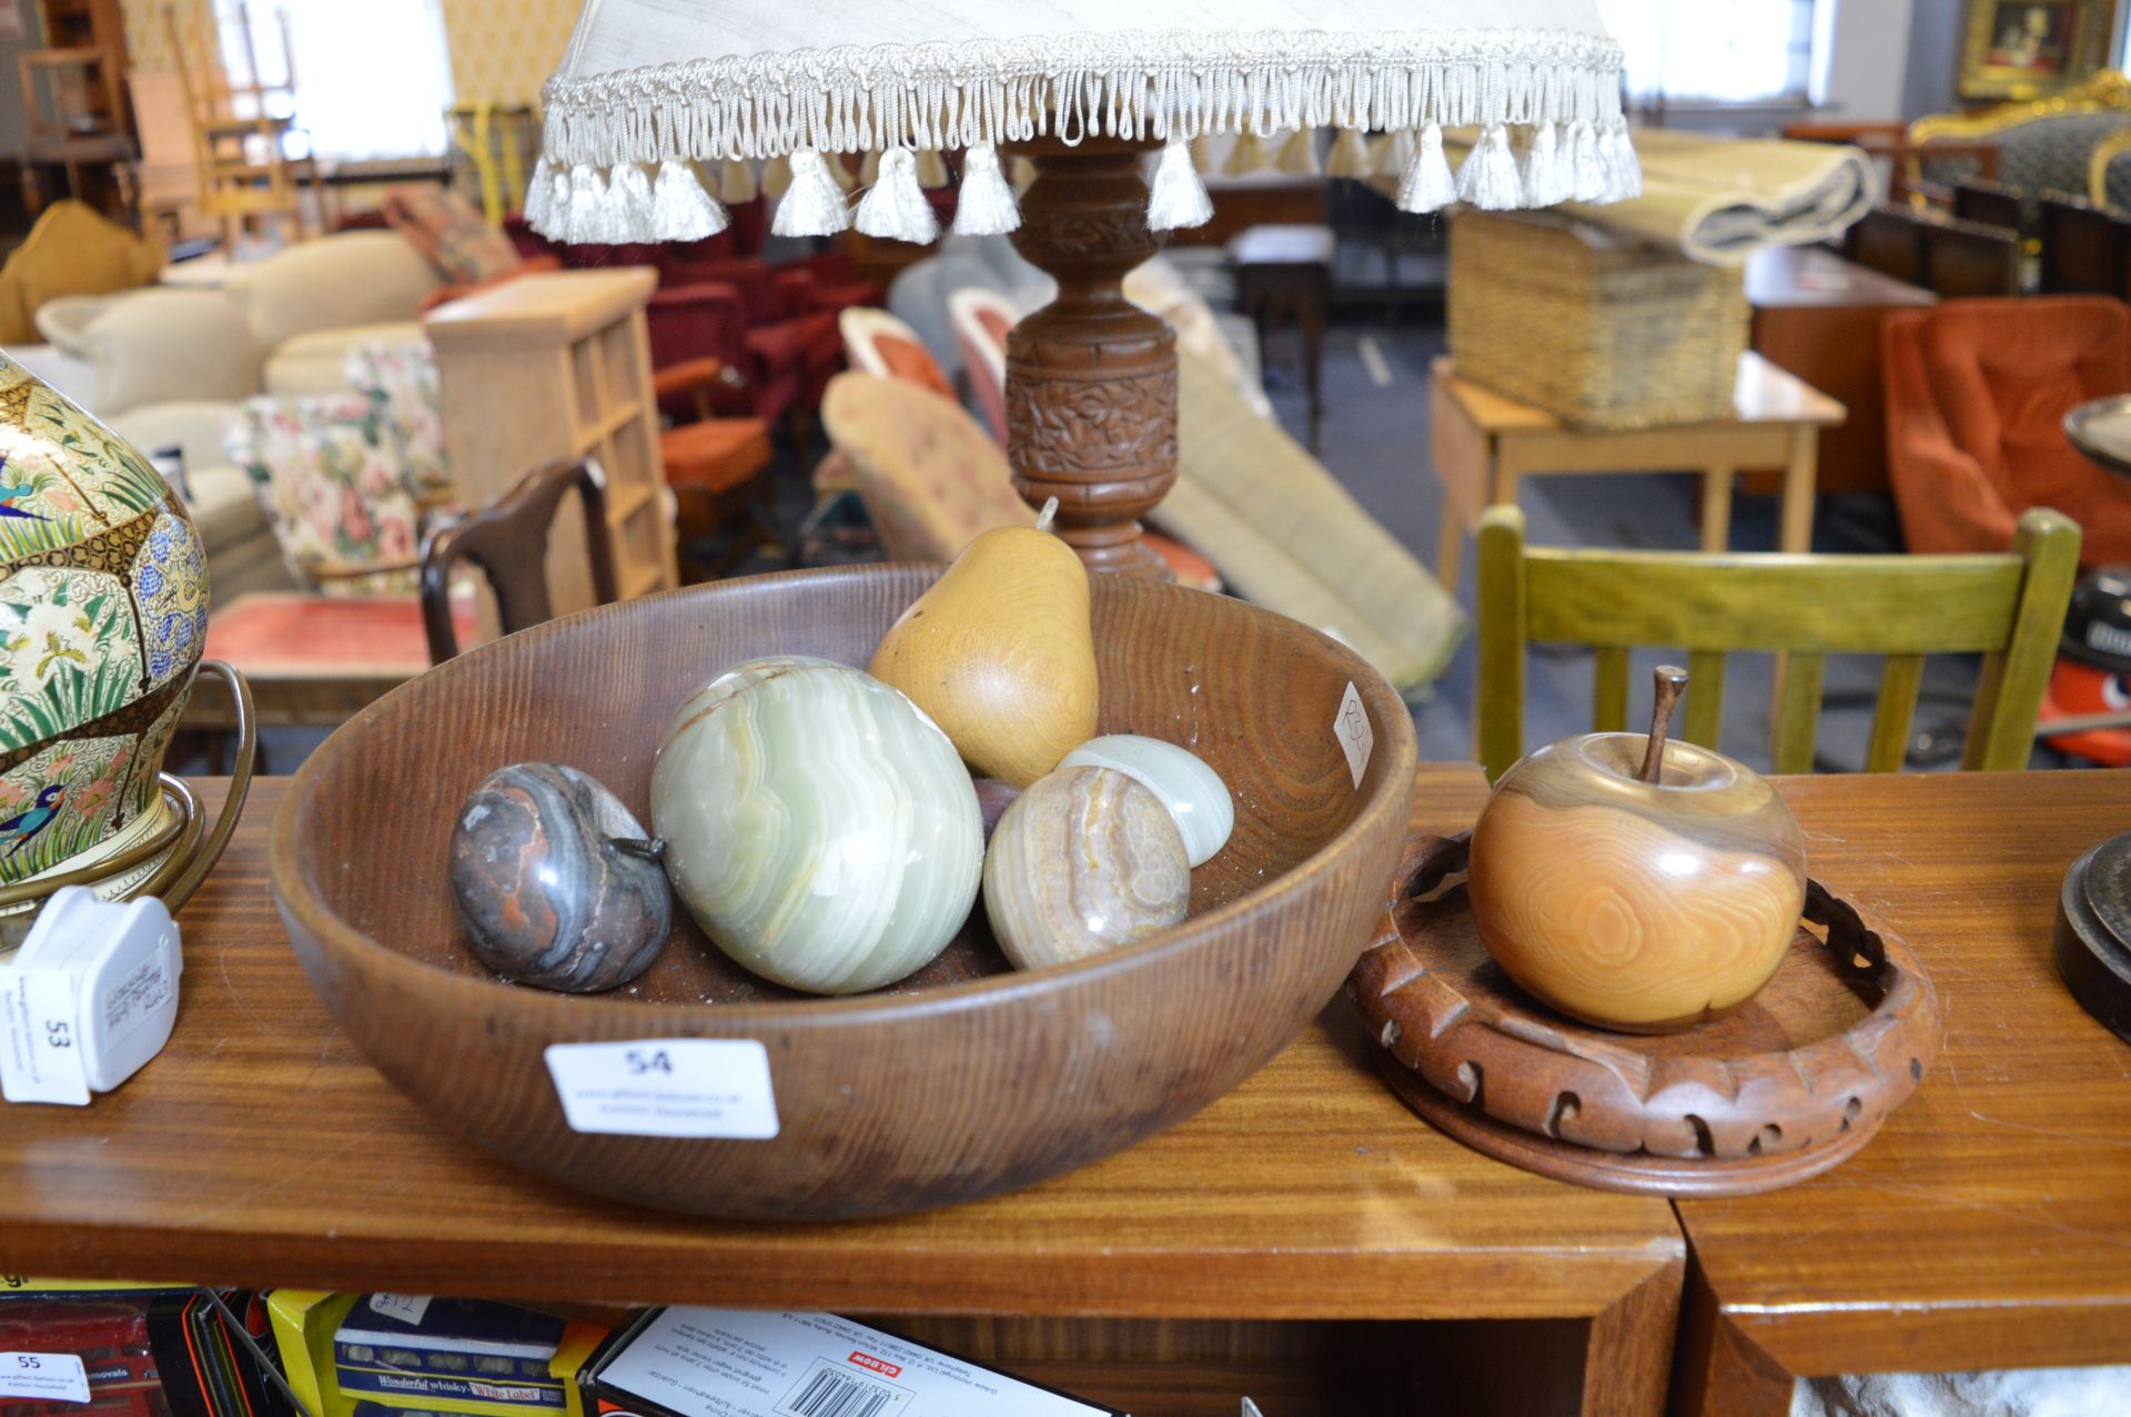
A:
{"type": "Polygon", "coordinates": [[[1473,829],[1473,923],[1494,961],[1573,1019],[1671,1033],[1769,982],[1805,906],[1805,837],[1750,767],[1666,742],[1679,669],[1658,669],[1649,735],[1590,733],[1528,754],[1473,829]]]}

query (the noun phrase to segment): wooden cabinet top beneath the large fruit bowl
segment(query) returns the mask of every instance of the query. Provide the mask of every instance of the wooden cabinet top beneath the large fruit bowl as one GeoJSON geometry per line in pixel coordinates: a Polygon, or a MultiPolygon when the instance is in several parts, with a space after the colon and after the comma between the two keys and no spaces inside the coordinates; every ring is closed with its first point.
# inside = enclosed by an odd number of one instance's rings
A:
{"type": "MultiPolygon", "coordinates": [[[[972,1206],[729,1225],[580,1198],[433,1127],[332,1027],[266,889],[283,780],[254,786],[181,914],[162,1057],[90,1108],[6,1108],[13,1272],[522,1300],[1108,1317],[1592,1315],[1683,1247],[1660,1200],[1511,1170],[1434,1134],[1336,999],[1181,1127],[972,1206]]],[[[1477,767],[1421,771],[1466,827],[1477,767]]],[[[379,882],[381,891],[394,889],[379,882]]]]}

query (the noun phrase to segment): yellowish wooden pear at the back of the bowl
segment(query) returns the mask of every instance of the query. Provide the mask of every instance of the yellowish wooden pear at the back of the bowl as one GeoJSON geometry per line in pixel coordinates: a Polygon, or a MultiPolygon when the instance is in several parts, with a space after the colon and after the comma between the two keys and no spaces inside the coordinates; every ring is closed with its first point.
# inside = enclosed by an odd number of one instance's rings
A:
{"type": "Polygon", "coordinates": [[[1087,569],[1038,526],[970,541],[880,637],[876,680],[946,729],[985,778],[1029,786],[1095,737],[1087,569]]]}

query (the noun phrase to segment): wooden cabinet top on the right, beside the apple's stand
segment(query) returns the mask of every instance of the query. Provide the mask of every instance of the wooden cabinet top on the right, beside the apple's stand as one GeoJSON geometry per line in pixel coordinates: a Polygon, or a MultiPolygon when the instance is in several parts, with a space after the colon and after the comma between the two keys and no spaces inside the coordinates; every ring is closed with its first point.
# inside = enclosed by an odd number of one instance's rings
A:
{"type": "Polygon", "coordinates": [[[2065,991],[2065,867],[2131,829],[2131,773],[1794,778],[1813,876],[1931,972],[1946,1050],[1837,1170],[1679,1202],[1726,1317],[1790,1372],[2125,1362],[2131,1044],[2065,991]]]}

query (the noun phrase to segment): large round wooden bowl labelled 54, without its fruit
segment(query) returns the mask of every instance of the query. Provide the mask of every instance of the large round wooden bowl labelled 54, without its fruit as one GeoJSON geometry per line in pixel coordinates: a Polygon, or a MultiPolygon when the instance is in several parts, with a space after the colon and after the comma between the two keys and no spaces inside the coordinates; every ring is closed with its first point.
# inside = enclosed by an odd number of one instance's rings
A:
{"type": "Polygon", "coordinates": [[[686,918],[614,995],[511,987],[467,948],[445,844],[473,784],[546,759],[646,814],[658,731],[697,684],[771,652],[863,665],[938,571],[801,571],[609,605],[477,648],[343,724],[296,776],[271,844],[290,940],[341,1027],[499,1157],[735,1219],[895,1215],[1031,1185],[1236,1087],[1338,991],[1389,901],[1413,724],[1351,650],[1176,586],[1097,577],[1093,620],[1102,731],[1185,744],[1236,797],[1181,927],[1012,974],[978,906],[921,974],[848,999],[748,976],[686,918]],[[1349,684],[1374,733],[1360,784],[1334,737],[1349,684]],[[776,1138],[571,1131],[543,1048],[644,1038],[759,1040],[776,1138]]]}

